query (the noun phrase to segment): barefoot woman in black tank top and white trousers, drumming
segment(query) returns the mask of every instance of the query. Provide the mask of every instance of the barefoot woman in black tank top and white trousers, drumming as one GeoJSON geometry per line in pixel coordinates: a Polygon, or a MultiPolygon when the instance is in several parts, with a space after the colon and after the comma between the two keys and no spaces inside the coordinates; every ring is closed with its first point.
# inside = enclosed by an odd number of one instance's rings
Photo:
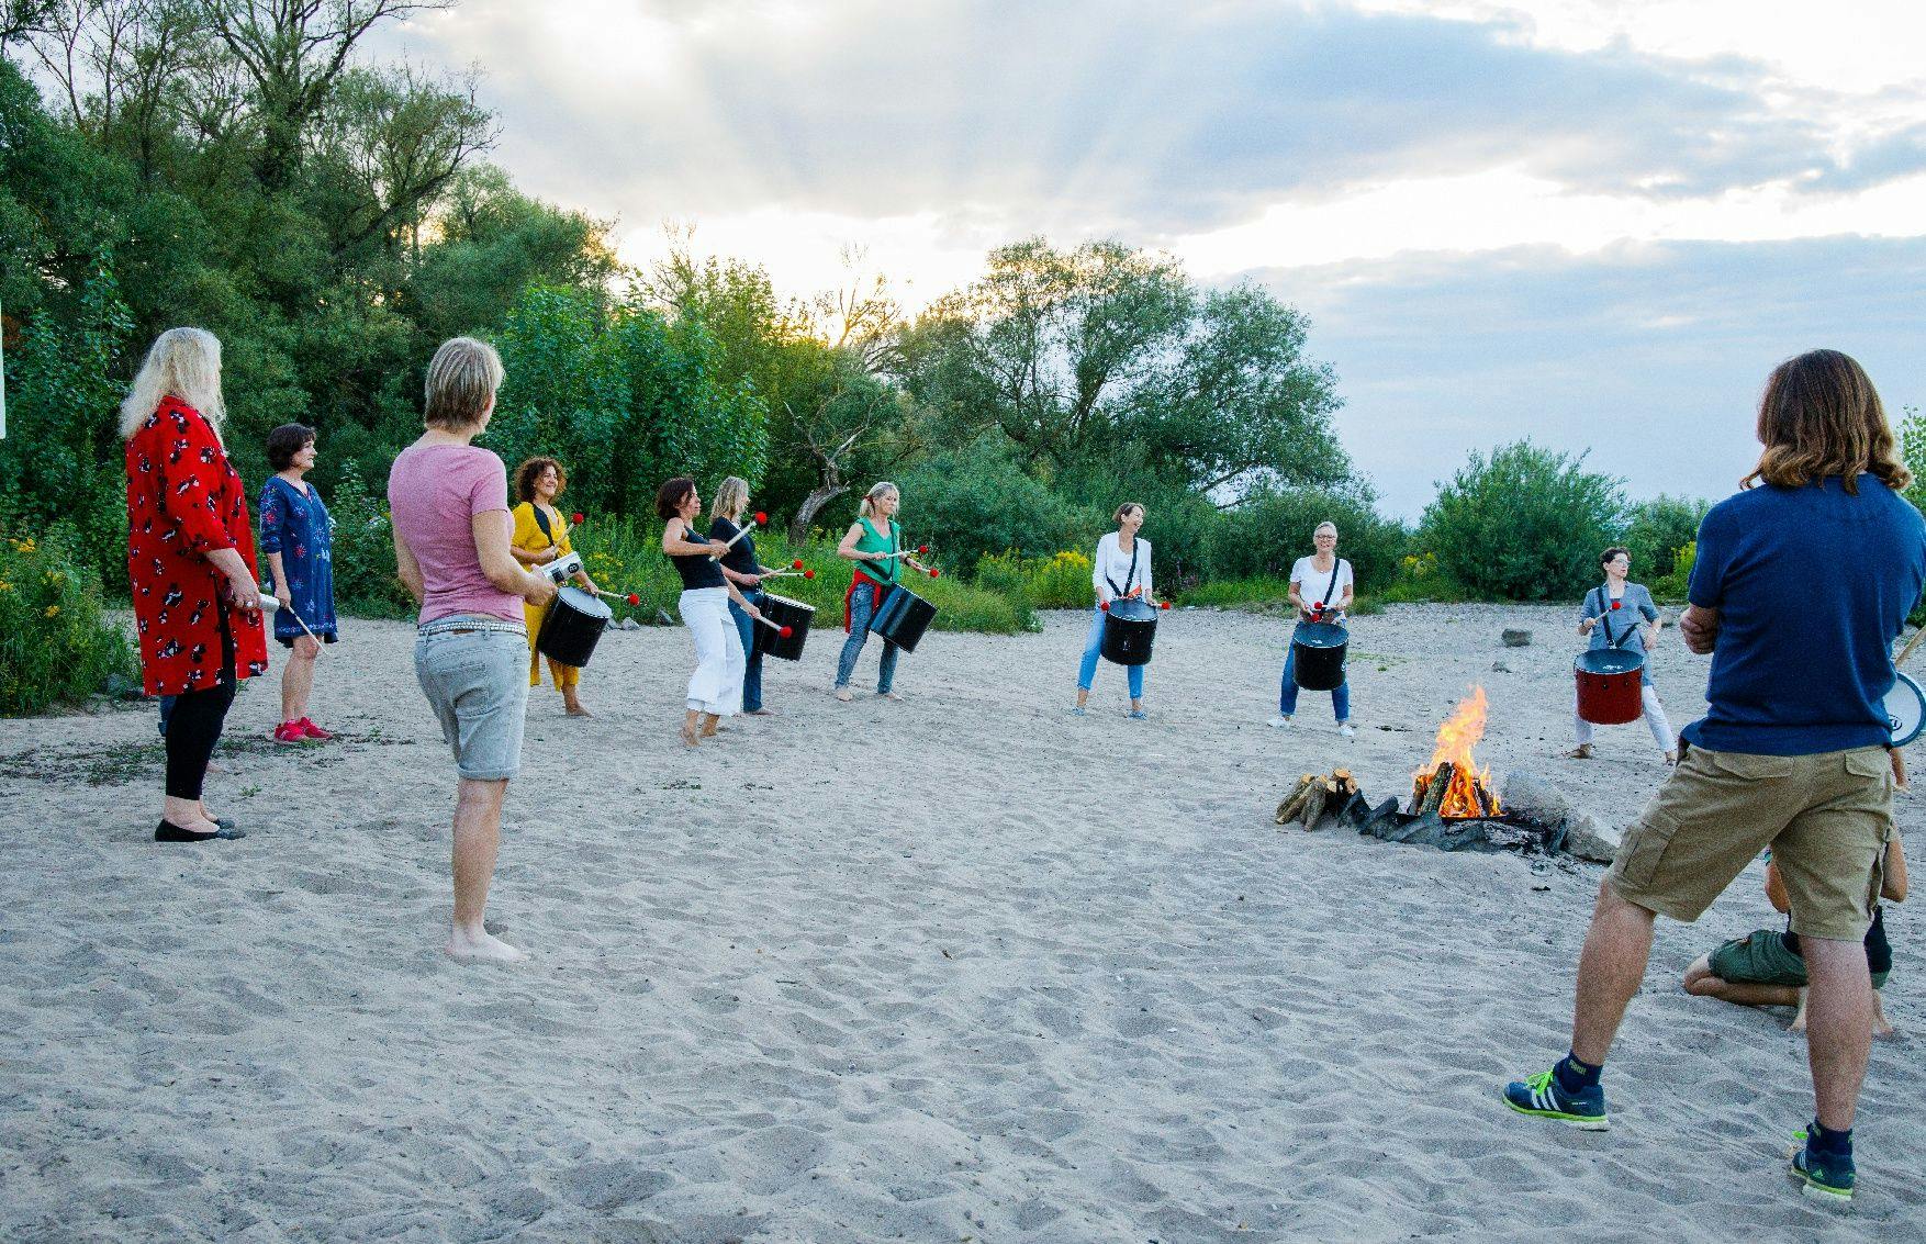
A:
{"type": "Polygon", "coordinates": [[[715,738],[724,716],[742,713],[743,655],[728,605],[736,601],[757,622],[763,612],[722,576],[718,558],[728,545],[695,537],[703,499],[693,479],[676,476],[664,483],[655,495],[655,512],[664,520],[663,553],[682,576],[676,607],[695,637],[695,672],[690,674],[688,716],[682,722],[682,741],[695,747],[699,739],[715,738]]]}

